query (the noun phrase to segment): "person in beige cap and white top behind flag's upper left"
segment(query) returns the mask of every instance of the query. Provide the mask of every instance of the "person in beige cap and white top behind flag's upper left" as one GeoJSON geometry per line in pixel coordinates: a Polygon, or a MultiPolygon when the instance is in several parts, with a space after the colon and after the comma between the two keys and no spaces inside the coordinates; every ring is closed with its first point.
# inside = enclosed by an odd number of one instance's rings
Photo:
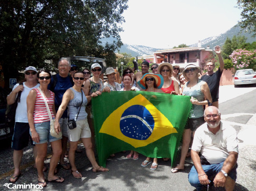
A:
{"type": "Polygon", "coordinates": [[[121,86],[115,82],[116,72],[112,67],[106,69],[106,76],[108,81],[103,84],[104,92],[120,91],[121,86]]]}

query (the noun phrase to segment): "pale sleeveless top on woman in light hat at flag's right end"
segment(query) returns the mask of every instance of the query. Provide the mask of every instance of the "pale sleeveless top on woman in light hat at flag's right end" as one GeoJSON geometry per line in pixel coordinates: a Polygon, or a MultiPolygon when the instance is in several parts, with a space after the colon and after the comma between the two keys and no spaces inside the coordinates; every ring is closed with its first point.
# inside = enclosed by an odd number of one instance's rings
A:
{"type": "MultiPolygon", "coordinates": [[[[201,81],[201,79],[198,79],[198,82],[196,85],[194,85],[193,87],[187,87],[187,84],[189,84],[189,82],[186,83],[184,89],[183,89],[183,95],[187,95],[187,96],[193,96],[194,98],[196,98],[198,100],[198,102],[202,102],[204,100],[204,94],[201,91],[201,86],[204,83],[204,81],[201,81]]],[[[189,114],[189,118],[199,118],[199,117],[203,117],[204,116],[204,108],[203,105],[192,105],[192,109],[190,111],[189,114]]]]}

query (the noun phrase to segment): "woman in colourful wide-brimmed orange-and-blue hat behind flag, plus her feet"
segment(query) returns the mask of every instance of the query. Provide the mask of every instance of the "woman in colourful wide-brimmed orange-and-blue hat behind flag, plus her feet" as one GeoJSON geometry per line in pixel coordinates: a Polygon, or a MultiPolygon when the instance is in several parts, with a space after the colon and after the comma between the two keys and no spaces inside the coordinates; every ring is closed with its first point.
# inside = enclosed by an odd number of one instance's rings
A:
{"type": "MultiPolygon", "coordinates": [[[[159,74],[147,73],[144,74],[143,77],[138,82],[138,85],[141,87],[141,91],[145,92],[159,92],[164,93],[161,89],[163,86],[164,79],[159,74]]],[[[145,167],[151,163],[150,157],[147,157],[141,166],[145,167]]],[[[151,170],[155,170],[158,167],[157,158],[154,158],[153,163],[150,167],[151,170]]]]}

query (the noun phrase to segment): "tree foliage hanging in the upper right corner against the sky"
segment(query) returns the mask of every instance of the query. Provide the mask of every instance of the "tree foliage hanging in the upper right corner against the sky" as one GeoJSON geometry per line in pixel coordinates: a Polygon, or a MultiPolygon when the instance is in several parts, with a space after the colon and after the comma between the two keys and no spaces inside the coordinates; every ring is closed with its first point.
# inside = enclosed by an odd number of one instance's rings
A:
{"type": "Polygon", "coordinates": [[[242,9],[241,21],[239,25],[246,29],[253,36],[256,36],[256,1],[255,0],[238,0],[238,8],[242,9]]]}

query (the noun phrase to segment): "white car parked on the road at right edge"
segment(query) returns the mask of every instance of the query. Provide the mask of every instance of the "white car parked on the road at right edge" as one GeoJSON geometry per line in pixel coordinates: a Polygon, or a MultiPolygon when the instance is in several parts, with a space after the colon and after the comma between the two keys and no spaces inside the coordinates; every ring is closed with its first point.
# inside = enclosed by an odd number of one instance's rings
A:
{"type": "Polygon", "coordinates": [[[256,74],[253,69],[239,69],[233,77],[235,87],[244,84],[254,84],[256,86],[256,74]]]}

